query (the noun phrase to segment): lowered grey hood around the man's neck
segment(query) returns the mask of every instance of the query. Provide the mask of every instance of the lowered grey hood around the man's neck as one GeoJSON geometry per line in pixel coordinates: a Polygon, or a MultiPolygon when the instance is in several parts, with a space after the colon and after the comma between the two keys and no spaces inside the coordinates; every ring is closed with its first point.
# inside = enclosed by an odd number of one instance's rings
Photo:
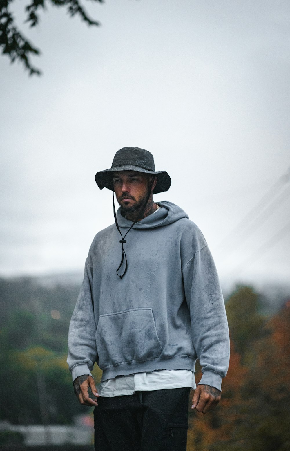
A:
{"type": "MultiPolygon", "coordinates": [[[[186,212],[172,202],[165,200],[158,202],[158,205],[159,209],[156,212],[136,222],[132,229],[153,229],[155,227],[167,226],[181,218],[189,219],[186,212]]],[[[122,229],[129,229],[131,227],[132,221],[129,221],[121,215],[121,208],[118,208],[116,216],[119,227],[122,229]]]]}

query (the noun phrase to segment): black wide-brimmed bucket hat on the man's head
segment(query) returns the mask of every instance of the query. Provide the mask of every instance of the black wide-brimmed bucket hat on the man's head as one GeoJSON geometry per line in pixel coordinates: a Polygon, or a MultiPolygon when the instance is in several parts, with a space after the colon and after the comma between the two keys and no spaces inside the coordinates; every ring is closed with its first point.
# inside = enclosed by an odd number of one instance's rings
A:
{"type": "Polygon", "coordinates": [[[171,185],[171,178],[166,171],[155,171],[154,158],[148,150],[140,149],[140,147],[123,147],[116,152],[112,167],[101,170],[95,175],[96,184],[100,189],[108,188],[113,191],[112,173],[123,170],[134,170],[152,174],[157,177],[157,184],[153,190],[153,194],[168,191],[171,185]]]}

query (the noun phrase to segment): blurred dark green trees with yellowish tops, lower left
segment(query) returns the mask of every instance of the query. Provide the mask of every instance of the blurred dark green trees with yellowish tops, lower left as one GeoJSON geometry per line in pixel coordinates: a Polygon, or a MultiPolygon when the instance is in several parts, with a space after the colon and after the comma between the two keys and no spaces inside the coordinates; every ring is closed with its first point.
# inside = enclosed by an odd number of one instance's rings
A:
{"type": "MultiPolygon", "coordinates": [[[[73,393],[66,357],[41,346],[2,354],[0,419],[16,424],[68,424],[74,415],[88,413],[90,409],[80,405],[73,393]]],[[[96,383],[98,376],[97,372],[96,383]]]]}

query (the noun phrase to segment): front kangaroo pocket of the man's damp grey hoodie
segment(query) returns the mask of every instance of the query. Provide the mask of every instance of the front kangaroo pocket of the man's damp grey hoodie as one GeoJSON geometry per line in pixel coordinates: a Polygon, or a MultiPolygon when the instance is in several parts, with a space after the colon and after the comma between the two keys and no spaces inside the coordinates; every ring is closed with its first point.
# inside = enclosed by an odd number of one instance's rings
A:
{"type": "Polygon", "coordinates": [[[159,357],[161,344],[152,308],[131,308],[100,315],[96,345],[102,369],[122,362],[159,357]]]}

